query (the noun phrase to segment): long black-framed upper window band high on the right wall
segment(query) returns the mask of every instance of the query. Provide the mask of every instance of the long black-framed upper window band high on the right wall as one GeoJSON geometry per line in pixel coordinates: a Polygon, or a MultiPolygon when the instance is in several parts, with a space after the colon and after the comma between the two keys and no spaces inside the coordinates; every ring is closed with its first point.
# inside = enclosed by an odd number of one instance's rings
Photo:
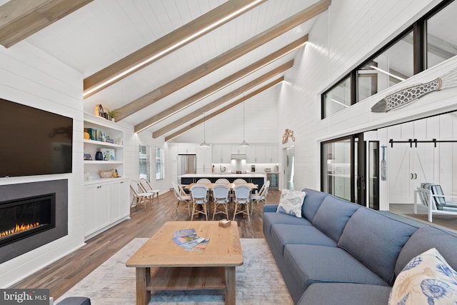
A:
{"type": "Polygon", "coordinates": [[[443,1],[322,94],[322,119],[457,54],[457,1],[443,1]]]}

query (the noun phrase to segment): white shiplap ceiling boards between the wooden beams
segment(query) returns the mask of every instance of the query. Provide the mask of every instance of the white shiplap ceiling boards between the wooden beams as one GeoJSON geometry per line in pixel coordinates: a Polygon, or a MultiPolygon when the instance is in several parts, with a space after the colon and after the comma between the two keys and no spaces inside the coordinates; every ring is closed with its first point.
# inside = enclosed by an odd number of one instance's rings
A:
{"type": "MultiPolygon", "coordinates": [[[[225,2],[224,0],[94,0],[29,36],[26,41],[80,71],[86,78],[225,2]]],[[[84,109],[92,113],[96,104],[102,104],[108,109],[118,109],[316,2],[318,1],[268,0],[144,69],[89,96],[84,100],[84,109]]],[[[313,19],[306,21],[183,89],[127,116],[124,121],[136,125],[149,119],[154,114],[305,36],[312,24],[313,19]]],[[[296,51],[146,130],[154,132],[196,109],[201,109],[211,101],[290,61],[295,55],[296,51]]],[[[172,132],[170,131],[169,134],[172,132]]]]}

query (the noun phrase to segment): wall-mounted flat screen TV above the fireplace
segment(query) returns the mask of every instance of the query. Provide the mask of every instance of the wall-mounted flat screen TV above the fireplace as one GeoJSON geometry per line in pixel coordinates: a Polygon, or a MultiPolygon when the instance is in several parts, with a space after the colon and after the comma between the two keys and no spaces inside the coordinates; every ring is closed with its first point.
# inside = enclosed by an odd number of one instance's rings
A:
{"type": "Polygon", "coordinates": [[[0,99],[0,177],[71,173],[73,119],[0,99]]]}

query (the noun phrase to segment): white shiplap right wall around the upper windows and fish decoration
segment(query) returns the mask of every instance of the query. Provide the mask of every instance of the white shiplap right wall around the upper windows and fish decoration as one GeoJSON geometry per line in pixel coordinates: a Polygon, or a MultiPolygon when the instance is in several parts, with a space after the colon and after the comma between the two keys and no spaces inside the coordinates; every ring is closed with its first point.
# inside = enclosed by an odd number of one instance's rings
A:
{"type": "MultiPolygon", "coordinates": [[[[457,66],[454,58],[321,120],[323,91],[439,3],[436,0],[362,2],[333,1],[328,11],[318,16],[304,51],[296,56],[294,67],[283,82],[278,102],[278,130],[292,129],[296,137],[293,143],[296,189],[320,189],[321,141],[457,109],[453,99],[457,89],[446,89],[428,94],[403,109],[371,113],[371,106],[386,95],[431,81],[457,66]]],[[[383,189],[386,188],[381,185],[383,189]]],[[[386,194],[381,197],[386,201],[386,194]]]]}

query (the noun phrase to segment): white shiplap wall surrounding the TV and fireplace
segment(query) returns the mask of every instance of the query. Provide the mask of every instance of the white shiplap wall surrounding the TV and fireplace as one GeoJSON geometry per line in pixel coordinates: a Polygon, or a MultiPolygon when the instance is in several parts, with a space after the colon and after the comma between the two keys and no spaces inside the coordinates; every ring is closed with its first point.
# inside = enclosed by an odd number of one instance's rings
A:
{"type": "Polygon", "coordinates": [[[0,179],[1,185],[57,179],[69,181],[69,234],[0,264],[0,287],[6,288],[84,244],[83,101],[81,74],[26,41],[9,49],[0,47],[0,63],[0,98],[74,119],[73,174],[0,179]]]}

